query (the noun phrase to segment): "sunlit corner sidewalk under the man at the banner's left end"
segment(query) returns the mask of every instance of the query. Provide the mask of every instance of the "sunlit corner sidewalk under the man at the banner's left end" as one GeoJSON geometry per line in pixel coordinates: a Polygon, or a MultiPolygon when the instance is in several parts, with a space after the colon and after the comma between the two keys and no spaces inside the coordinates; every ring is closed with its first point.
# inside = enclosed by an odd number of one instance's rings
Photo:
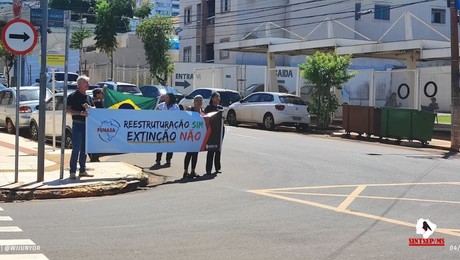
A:
{"type": "Polygon", "coordinates": [[[64,177],[60,179],[61,148],[53,149],[48,144],[44,181],[37,182],[37,148],[37,142],[19,137],[18,182],[14,183],[15,135],[0,132],[0,201],[113,195],[163,182],[162,178],[124,162],[103,162],[103,157],[101,162],[94,163],[88,158],[87,171],[94,177],[69,179],[71,149],[65,150],[64,177]]]}

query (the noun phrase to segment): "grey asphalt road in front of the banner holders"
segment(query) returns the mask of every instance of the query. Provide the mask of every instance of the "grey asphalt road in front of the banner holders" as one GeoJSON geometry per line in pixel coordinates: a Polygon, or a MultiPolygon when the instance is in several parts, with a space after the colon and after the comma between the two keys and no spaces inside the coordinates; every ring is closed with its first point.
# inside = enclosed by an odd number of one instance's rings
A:
{"type": "MultiPolygon", "coordinates": [[[[227,127],[223,173],[133,193],[2,204],[49,259],[458,259],[458,156],[227,127]],[[410,247],[419,218],[443,247],[410,247]]],[[[107,158],[149,168],[154,154],[107,158]]],[[[205,154],[198,171],[204,173],[205,154]]],[[[3,234],[2,234],[3,236],[3,234]]],[[[7,234],[4,237],[13,236],[7,234]]],[[[17,235],[16,235],[17,236],[17,235]]]]}

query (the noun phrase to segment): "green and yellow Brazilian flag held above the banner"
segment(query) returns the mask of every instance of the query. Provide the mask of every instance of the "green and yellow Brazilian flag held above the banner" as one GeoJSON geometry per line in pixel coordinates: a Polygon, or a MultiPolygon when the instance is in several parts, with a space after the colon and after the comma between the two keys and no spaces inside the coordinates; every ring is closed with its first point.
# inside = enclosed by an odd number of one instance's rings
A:
{"type": "Polygon", "coordinates": [[[121,92],[104,88],[104,107],[111,109],[155,109],[156,98],[123,94],[121,92]]]}

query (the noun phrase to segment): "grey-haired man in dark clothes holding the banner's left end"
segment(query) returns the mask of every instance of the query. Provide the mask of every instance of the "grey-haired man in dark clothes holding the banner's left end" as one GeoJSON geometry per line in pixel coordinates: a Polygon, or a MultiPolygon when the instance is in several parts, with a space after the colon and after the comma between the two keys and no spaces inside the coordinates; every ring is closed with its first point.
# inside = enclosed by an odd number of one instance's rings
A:
{"type": "Polygon", "coordinates": [[[77,91],[67,97],[67,113],[72,115],[72,155],[70,156],[70,178],[76,178],[77,161],[80,164],[79,177],[93,177],[86,172],[86,109],[94,107],[90,96],[86,95],[89,78],[80,76],[77,79],[77,91]]]}

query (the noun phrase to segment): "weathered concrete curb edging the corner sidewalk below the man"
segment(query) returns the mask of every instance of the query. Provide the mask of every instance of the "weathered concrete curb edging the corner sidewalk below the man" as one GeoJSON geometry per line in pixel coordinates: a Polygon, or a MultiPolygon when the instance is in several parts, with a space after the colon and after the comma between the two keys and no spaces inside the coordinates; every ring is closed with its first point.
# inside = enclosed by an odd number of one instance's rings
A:
{"type": "Polygon", "coordinates": [[[165,180],[166,178],[163,176],[142,172],[137,178],[118,179],[110,183],[96,183],[77,187],[3,188],[0,189],[0,201],[12,202],[16,200],[64,199],[116,195],[135,191],[139,187],[155,187],[164,183],[165,180]]]}

